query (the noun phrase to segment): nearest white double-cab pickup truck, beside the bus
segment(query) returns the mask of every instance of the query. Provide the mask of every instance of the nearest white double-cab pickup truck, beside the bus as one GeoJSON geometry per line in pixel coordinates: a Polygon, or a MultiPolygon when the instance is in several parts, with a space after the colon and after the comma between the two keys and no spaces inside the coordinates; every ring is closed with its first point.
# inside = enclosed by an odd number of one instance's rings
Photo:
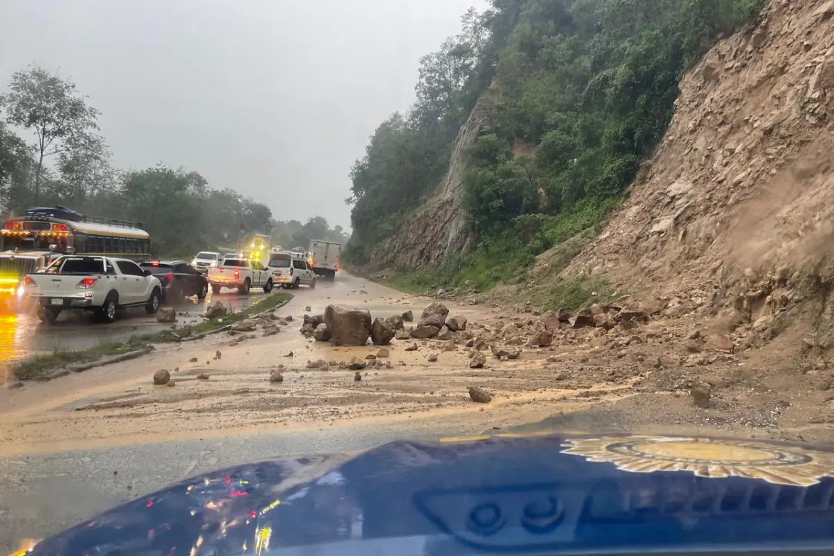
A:
{"type": "Polygon", "coordinates": [[[109,323],[121,308],[144,307],[153,314],[162,297],[158,278],[126,258],[65,255],[42,273],[27,274],[23,285],[46,323],[70,309],[94,311],[109,323]]]}

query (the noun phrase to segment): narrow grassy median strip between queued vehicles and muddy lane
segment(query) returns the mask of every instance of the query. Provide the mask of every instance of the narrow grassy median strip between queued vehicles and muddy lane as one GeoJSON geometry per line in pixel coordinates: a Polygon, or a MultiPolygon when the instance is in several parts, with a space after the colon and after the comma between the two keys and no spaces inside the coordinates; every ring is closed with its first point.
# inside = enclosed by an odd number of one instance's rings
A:
{"type": "Polygon", "coordinates": [[[175,326],[174,328],[166,328],[159,332],[141,334],[133,336],[127,342],[123,343],[103,342],[93,348],[77,351],[56,348],[52,353],[35,355],[13,365],[12,372],[18,380],[32,380],[35,378],[43,378],[49,373],[60,368],[68,367],[69,365],[92,363],[102,358],[147,348],[152,343],[179,342],[183,338],[214,332],[214,330],[219,330],[230,324],[239,323],[257,313],[268,311],[270,308],[276,308],[292,297],[289,293],[272,293],[238,313],[227,314],[224,318],[210,318],[195,326],[175,326]]]}

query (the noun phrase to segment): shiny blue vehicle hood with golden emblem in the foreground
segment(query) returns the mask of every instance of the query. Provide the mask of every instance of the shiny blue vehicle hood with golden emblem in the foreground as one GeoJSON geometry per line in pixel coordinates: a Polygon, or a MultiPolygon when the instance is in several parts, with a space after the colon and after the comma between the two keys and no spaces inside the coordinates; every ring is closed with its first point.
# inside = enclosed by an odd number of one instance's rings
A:
{"type": "Polygon", "coordinates": [[[208,473],[33,554],[834,549],[834,448],[644,435],[385,444],[208,473]]]}

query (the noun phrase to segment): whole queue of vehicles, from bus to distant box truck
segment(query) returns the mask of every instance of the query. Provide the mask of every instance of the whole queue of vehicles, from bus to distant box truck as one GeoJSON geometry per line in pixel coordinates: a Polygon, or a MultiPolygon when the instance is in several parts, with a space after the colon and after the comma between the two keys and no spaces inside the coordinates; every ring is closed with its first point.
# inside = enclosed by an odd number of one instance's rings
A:
{"type": "Polygon", "coordinates": [[[45,322],[68,309],[93,311],[109,322],[117,309],[143,306],[156,313],[162,302],[203,300],[209,291],[315,288],[317,278],[332,280],[339,268],[338,243],[315,240],[309,250],[287,251],[271,246],[264,234],[237,253],[201,251],[190,262],[159,259],[144,228],[62,206],[29,208],[9,218],[0,228],[0,303],[15,312],[37,311],[45,322]]]}

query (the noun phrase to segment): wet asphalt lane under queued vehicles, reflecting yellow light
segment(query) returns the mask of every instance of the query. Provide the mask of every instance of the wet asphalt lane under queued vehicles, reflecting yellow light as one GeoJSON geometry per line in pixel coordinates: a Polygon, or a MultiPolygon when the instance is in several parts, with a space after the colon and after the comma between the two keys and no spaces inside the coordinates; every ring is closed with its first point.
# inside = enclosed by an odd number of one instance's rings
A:
{"type": "MultiPolygon", "coordinates": [[[[201,321],[208,303],[220,299],[229,304],[235,311],[257,303],[264,297],[261,290],[253,290],[249,295],[239,295],[233,290],[224,290],[213,297],[198,301],[196,297],[183,298],[173,307],[178,313],[188,313],[187,317],[180,317],[180,323],[188,324],[201,321]]],[[[98,323],[93,313],[67,311],[58,316],[58,321],[46,325],[38,320],[33,313],[0,314],[0,363],[25,358],[33,353],[52,352],[56,350],[80,350],[94,348],[100,343],[125,342],[134,335],[153,333],[169,324],[156,322],[154,315],[148,315],[143,308],[131,308],[122,311],[115,323],[98,323]]]]}

